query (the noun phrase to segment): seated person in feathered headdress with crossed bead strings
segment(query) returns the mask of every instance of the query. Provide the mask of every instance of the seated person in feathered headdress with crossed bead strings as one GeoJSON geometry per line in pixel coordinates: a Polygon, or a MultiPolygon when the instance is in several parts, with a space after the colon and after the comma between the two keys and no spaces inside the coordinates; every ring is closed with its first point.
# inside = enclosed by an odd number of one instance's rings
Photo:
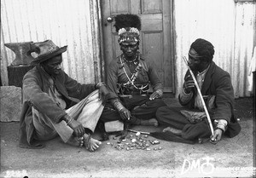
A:
{"type": "Polygon", "coordinates": [[[101,120],[158,126],[155,112],[166,104],[160,99],[163,86],[154,62],[138,51],[141,20],[136,14],[119,14],[115,16],[114,26],[123,53],[108,66],[110,96],[101,120]],[[148,95],[149,84],[153,87],[152,95],[148,95]]]}

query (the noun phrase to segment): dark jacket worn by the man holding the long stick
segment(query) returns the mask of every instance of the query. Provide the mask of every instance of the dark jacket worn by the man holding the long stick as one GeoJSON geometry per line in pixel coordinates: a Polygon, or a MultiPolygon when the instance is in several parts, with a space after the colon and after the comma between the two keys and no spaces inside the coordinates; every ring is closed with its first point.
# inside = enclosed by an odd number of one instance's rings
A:
{"type": "MultiPolygon", "coordinates": [[[[187,71],[184,78],[189,75],[189,71],[187,71]]],[[[180,104],[183,106],[187,106],[192,109],[195,108],[195,95],[197,90],[193,90],[193,98],[189,100],[188,103],[180,104]]],[[[206,77],[204,79],[204,83],[201,86],[201,94],[202,95],[215,95],[215,112],[212,115],[211,119],[225,119],[228,122],[228,129],[225,134],[230,137],[234,137],[239,134],[241,130],[241,126],[237,123],[237,120],[234,116],[234,89],[231,83],[230,74],[225,72],[219,66],[217,66],[213,61],[211,66],[209,67],[206,77]]]]}

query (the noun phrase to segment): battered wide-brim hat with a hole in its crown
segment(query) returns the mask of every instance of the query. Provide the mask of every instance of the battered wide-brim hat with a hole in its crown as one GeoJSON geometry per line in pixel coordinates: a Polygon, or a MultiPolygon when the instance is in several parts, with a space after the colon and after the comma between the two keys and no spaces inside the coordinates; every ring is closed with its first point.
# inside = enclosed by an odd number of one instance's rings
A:
{"type": "Polygon", "coordinates": [[[34,48],[36,49],[36,57],[31,62],[31,65],[38,65],[45,60],[53,58],[55,55],[60,55],[67,51],[67,46],[58,47],[51,40],[46,40],[44,42],[33,43],[34,48]]]}

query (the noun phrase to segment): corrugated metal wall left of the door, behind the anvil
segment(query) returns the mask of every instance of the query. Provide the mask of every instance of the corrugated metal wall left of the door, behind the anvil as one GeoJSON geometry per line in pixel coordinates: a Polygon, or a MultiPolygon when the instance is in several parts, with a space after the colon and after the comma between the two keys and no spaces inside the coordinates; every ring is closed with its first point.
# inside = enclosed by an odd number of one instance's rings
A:
{"type": "Polygon", "coordinates": [[[15,54],[4,43],[51,39],[67,45],[63,69],[80,83],[100,80],[100,33],[95,0],[1,0],[1,75],[8,84],[7,68],[15,54]]]}

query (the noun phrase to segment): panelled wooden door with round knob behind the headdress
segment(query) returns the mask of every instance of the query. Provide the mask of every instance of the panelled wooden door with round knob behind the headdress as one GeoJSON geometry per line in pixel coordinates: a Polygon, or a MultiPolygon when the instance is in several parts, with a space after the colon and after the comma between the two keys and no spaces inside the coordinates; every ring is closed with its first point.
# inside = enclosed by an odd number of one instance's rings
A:
{"type": "Polygon", "coordinates": [[[101,7],[105,70],[108,71],[109,62],[121,54],[114,16],[137,14],[142,20],[140,52],[148,60],[154,60],[164,91],[174,91],[172,0],[102,0],[101,7]]]}

